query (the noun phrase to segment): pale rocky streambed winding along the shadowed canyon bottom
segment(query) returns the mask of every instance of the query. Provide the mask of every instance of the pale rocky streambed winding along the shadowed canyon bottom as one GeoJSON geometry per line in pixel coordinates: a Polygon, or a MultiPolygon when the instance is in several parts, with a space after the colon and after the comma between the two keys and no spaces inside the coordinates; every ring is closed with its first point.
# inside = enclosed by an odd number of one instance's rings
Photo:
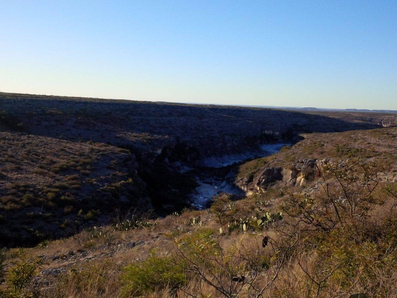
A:
{"type": "MultiPolygon", "coordinates": [[[[203,160],[202,165],[208,168],[221,168],[232,165],[234,163],[242,162],[252,158],[265,157],[271,154],[277,153],[283,146],[289,146],[291,144],[278,143],[278,144],[264,144],[261,145],[261,149],[257,151],[248,151],[241,154],[231,154],[223,156],[212,156],[203,160]]],[[[212,200],[212,197],[220,192],[244,195],[244,192],[234,186],[232,182],[232,176],[223,177],[197,177],[199,186],[196,191],[192,194],[192,206],[197,209],[203,209],[207,207],[208,202],[212,200]]]]}

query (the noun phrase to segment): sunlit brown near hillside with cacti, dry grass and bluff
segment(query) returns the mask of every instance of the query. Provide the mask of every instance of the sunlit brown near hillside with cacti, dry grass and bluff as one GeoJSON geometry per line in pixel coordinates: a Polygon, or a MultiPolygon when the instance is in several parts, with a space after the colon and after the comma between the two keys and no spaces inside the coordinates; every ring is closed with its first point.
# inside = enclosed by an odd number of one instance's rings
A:
{"type": "Polygon", "coordinates": [[[238,201],[219,194],[208,210],[13,249],[7,269],[39,260],[20,291],[46,297],[393,297],[396,142],[396,128],[305,135],[238,174],[255,181],[265,167],[295,167],[303,183],[281,179],[238,201]]]}

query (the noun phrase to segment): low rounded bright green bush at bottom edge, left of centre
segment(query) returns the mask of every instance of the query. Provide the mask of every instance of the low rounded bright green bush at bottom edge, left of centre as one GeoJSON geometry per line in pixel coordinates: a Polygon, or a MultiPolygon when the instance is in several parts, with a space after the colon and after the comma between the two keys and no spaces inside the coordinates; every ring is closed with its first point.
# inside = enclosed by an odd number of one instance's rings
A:
{"type": "Polygon", "coordinates": [[[171,257],[158,257],[152,251],[142,263],[122,268],[122,297],[143,295],[159,288],[178,289],[186,283],[182,267],[175,266],[171,257]]]}

